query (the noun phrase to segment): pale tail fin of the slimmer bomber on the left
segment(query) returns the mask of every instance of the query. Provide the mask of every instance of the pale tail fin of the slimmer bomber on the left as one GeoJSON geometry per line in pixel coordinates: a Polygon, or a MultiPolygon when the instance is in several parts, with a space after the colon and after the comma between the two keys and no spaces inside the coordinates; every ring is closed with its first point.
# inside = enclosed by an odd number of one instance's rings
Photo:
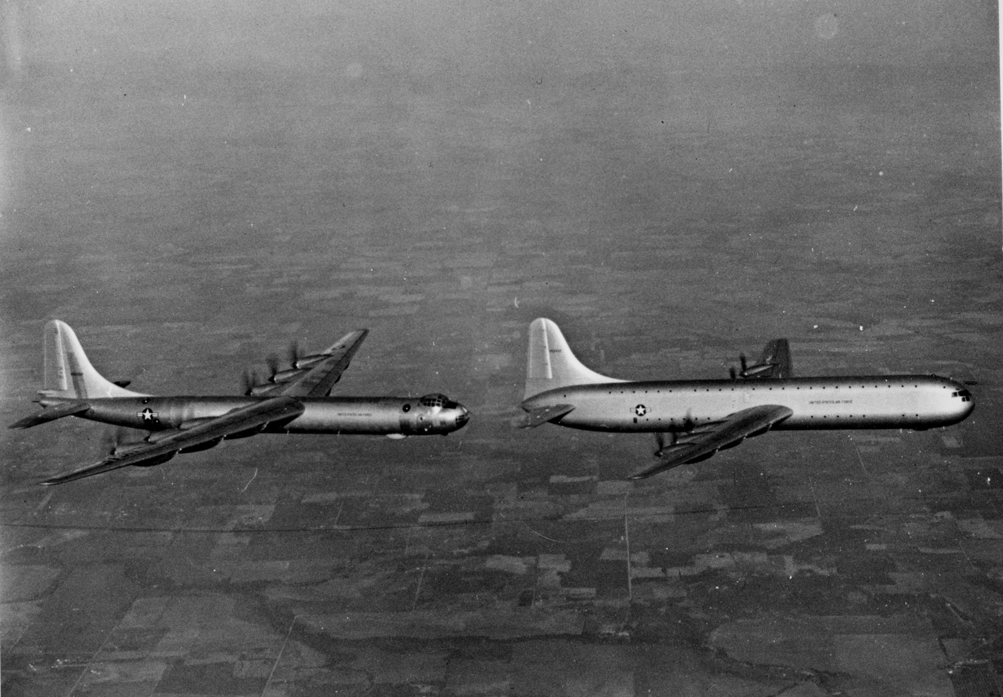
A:
{"type": "Polygon", "coordinates": [[[69,324],[58,319],[45,323],[43,334],[45,384],[39,394],[85,400],[101,397],[145,397],[102,378],[87,361],[69,324]]]}

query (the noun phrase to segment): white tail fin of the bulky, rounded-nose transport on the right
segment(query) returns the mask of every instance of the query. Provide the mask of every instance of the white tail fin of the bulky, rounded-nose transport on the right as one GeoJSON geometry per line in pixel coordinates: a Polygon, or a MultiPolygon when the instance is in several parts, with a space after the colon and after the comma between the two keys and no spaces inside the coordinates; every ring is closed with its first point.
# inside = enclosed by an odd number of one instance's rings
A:
{"type": "Polygon", "coordinates": [[[550,319],[540,317],[530,323],[530,351],[526,363],[526,394],[530,399],[548,390],[570,385],[623,383],[590,371],[575,358],[561,329],[550,319]]]}

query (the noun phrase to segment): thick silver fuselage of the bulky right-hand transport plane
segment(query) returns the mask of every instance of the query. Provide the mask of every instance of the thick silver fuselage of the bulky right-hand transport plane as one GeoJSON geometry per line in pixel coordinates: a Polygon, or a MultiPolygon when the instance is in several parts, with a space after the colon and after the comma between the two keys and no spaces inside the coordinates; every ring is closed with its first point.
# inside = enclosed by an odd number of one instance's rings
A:
{"type": "Polygon", "coordinates": [[[773,430],[925,430],[963,421],[968,390],[939,376],[690,380],[577,385],[542,392],[526,410],[573,404],[554,423],[588,431],[682,432],[759,405],[789,407],[773,430]]]}

